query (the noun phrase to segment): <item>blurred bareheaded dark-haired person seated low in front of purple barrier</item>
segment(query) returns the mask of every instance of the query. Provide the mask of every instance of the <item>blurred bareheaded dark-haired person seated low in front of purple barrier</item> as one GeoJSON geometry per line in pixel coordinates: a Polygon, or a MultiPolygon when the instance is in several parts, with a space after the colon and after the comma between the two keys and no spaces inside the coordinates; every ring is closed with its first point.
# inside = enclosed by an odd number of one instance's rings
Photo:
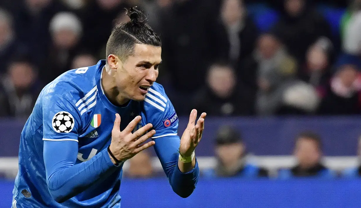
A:
{"type": "Polygon", "coordinates": [[[336,173],[321,163],[321,139],[312,132],[301,133],[296,139],[294,155],[297,165],[291,169],[281,169],[278,178],[298,177],[334,178],[336,173]]]}

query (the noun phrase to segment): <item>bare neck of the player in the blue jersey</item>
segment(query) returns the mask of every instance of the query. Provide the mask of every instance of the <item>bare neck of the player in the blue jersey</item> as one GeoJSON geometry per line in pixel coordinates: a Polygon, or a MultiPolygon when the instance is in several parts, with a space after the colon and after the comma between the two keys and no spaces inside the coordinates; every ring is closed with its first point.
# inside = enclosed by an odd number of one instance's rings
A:
{"type": "Polygon", "coordinates": [[[125,105],[130,101],[130,99],[125,98],[118,90],[116,81],[114,76],[112,76],[112,72],[110,69],[104,66],[103,72],[101,76],[101,87],[104,90],[104,94],[109,101],[116,106],[125,105]]]}

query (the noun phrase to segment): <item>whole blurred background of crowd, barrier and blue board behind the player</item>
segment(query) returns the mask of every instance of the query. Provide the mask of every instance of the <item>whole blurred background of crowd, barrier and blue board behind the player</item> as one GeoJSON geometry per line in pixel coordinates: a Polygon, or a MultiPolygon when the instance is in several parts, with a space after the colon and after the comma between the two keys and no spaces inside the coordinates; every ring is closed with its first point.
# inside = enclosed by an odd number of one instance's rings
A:
{"type": "Polygon", "coordinates": [[[123,207],[360,207],[361,0],[1,0],[0,207],[40,90],[105,59],[135,5],[161,37],[179,132],[191,109],[208,117],[195,192],[179,198],[143,151],[123,207]]]}

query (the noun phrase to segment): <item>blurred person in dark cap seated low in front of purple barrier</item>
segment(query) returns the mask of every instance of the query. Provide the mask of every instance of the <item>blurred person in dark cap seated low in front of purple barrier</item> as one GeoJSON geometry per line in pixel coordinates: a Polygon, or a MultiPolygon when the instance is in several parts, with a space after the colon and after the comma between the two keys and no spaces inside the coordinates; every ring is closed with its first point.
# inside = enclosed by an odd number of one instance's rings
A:
{"type": "Polygon", "coordinates": [[[266,169],[247,162],[245,144],[240,133],[232,127],[222,126],[218,129],[216,156],[216,168],[204,170],[204,177],[268,177],[266,169]]]}

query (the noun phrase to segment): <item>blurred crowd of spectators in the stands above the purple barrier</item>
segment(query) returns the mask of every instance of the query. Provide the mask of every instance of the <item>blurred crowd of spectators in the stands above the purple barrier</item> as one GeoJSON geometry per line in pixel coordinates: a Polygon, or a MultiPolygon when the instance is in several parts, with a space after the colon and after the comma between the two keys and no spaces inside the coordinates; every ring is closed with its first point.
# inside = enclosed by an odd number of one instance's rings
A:
{"type": "Polygon", "coordinates": [[[361,0],[2,0],[0,116],[26,118],[58,75],[105,59],[134,5],[160,34],[178,115],[361,111],[361,0]]]}

